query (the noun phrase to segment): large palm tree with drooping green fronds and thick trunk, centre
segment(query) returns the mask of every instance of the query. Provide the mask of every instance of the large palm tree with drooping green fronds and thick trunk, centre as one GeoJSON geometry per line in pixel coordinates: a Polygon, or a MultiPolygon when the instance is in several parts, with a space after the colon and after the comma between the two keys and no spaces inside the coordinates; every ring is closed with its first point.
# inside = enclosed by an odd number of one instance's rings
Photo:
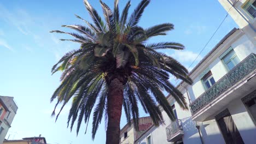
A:
{"type": "Polygon", "coordinates": [[[56,106],[62,104],[62,110],[72,99],[68,115],[68,125],[71,123],[71,130],[76,120],[77,133],[82,121],[88,124],[94,108],[92,139],[95,138],[98,125],[105,115],[106,143],[119,143],[122,106],[127,122],[131,123],[133,118],[135,129],[138,130],[138,101],[144,111],[149,113],[155,125],[163,121],[158,104],[168,117],[174,120],[171,106],[162,91],[170,93],[183,109],[188,109],[182,93],[168,81],[171,74],[191,84],[188,70],[172,57],[157,51],[182,50],[184,46],[172,42],[147,43],[152,37],[166,35],[167,31],[173,29],[173,25],[163,23],[146,29],[138,26],[149,2],[142,0],[128,18],[130,1],[121,13],[119,13],[118,0],[114,1],[114,10],[100,1],[105,19],[103,21],[90,3],[84,0],[93,23],[76,15],[88,27],[82,25],[62,27],[74,29],[79,34],[51,31],[69,34],[74,39],[61,40],[81,44],[79,49],[66,53],[52,69],[53,74],[62,71],[60,78],[62,82],[51,97],[51,101],[57,99],[56,106]]]}

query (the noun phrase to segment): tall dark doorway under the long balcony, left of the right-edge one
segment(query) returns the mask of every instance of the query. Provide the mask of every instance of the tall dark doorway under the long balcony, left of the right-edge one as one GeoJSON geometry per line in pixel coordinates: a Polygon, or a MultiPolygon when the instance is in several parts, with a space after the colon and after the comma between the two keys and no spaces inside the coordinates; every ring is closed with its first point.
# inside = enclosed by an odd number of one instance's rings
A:
{"type": "Polygon", "coordinates": [[[216,116],[216,121],[227,144],[244,144],[228,109],[216,116]]]}

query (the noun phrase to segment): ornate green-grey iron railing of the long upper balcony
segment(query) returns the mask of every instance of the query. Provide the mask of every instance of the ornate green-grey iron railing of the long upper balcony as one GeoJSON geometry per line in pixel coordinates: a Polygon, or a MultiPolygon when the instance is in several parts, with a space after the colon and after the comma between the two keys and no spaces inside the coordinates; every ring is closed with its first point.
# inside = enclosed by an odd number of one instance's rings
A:
{"type": "Polygon", "coordinates": [[[238,81],[245,76],[252,73],[256,69],[256,55],[251,53],[243,61],[238,63],[236,67],[231,69],[222,79],[218,80],[212,87],[201,94],[193,103],[190,104],[192,115],[203,107],[211,103],[214,99],[219,97],[223,92],[234,86],[238,81]]]}

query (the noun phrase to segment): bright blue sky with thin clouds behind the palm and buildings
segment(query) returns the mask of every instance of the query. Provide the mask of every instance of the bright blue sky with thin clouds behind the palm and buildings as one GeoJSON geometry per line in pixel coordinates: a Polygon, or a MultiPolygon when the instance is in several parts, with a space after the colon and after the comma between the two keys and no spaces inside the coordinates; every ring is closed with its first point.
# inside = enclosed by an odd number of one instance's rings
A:
{"type": "MultiPolygon", "coordinates": [[[[89,2],[101,13],[98,1],[89,2]]],[[[113,6],[113,1],[104,2],[110,7],[113,6]]],[[[126,2],[120,0],[120,8],[123,8],[126,2]]],[[[131,1],[130,12],[138,2],[131,1]]],[[[85,135],[85,125],[82,125],[78,136],[75,130],[71,133],[66,128],[69,106],[63,110],[56,123],[55,119],[50,117],[54,108],[54,103],[50,104],[50,97],[60,84],[60,73],[51,75],[51,67],[64,53],[78,49],[79,45],[60,41],[60,38],[68,37],[52,34],[49,31],[65,30],[61,25],[84,25],[83,21],[77,19],[74,14],[90,20],[82,0],[0,2],[0,95],[14,97],[19,106],[7,135],[8,137],[10,134],[10,140],[42,134],[46,137],[46,141],[52,144],[104,143],[104,121],[97,131],[95,141],[92,141],[91,121],[85,135]]],[[[225,15],[226,11],[217,0],[153,0],[144,11],[139,25],[150,27],[164,22],[173,23],[175,29],[167,36],[151,39],[150,42],[182,43],[186,47],[185,50],[164,52],[188,67],[225,15]]],[[[234,27],[237,25],[228,16],[196,63],[234,27]]],[[[171,80],[174,82],[173,77],[171,80]]],[[[141,112],[141,116],[146,114],[141,112]]],[[[126,120],[122,115],[121,127],[125,124],[126,120]]]]}

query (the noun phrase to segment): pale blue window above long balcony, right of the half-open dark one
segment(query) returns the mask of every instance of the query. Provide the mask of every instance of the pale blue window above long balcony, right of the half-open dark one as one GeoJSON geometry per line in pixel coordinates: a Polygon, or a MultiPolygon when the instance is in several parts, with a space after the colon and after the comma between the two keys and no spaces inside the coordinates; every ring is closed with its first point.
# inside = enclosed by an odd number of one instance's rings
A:
{"type": "Polygon", "coordinates": [[[226,67],[231,70],[240,62],[240,59],[238,59],[235,51],[232,49],[222,58],[222,61],[226,67]]]}

